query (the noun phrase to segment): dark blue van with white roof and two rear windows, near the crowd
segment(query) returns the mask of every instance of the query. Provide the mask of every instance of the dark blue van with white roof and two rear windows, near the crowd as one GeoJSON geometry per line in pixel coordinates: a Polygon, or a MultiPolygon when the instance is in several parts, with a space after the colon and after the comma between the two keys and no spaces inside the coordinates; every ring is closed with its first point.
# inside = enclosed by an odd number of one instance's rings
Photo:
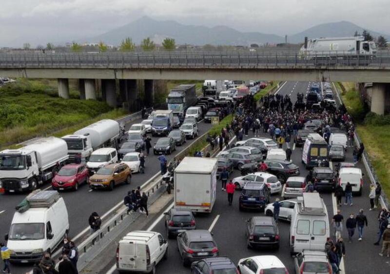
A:
{"type": "Polygon", "coordinates": [[[320,162],[322,166],[328,166],[328,154],[328,143],[325,139],[318,133],[309,133],[302,149],[302,163],[306,168],[318,166],[320,162]]]}

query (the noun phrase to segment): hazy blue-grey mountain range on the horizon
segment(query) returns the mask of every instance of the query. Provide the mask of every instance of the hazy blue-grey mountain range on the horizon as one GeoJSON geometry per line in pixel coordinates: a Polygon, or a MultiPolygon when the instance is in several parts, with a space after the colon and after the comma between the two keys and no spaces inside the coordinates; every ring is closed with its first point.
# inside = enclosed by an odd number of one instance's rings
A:
{"type": "MultiPolygon", "coordinates": [[[[363,28],[348,21],[324,23],[313,26],[300,33],[289,35],[289,43],[302,43],[305,37],[346,37],[353,36],[357,31],[363,32],[363,28]]],[[[368,30],[373,37],[383,35],[390,40],[390,35],[380,34],[368,30]]],[[[104,41],[107,44],[119,45],[122,39],[131,37],[139,44],[145,37],[150,37],[160,44],[166,37],[175,38],[176,44],[193,45],[243,45],[251,43],[284,43],[285,37],[265,34],[260,32],[240,32],[227,26],[195,26],[183,25],[174,20],[159,21],[144,16],[129,24],[115,28],[96,37],[88,38],[88,42],[104,41]]]]}

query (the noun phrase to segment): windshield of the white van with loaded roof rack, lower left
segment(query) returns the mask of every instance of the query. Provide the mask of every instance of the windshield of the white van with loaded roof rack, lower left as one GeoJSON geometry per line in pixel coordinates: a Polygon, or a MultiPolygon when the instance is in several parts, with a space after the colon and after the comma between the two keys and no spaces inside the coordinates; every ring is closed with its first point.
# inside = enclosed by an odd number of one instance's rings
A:
{"type": "Polygon", "coordinates": [[[14,223],[11,225],[10,240],[39,240],[45,237],[44,223],[14,223]]]}

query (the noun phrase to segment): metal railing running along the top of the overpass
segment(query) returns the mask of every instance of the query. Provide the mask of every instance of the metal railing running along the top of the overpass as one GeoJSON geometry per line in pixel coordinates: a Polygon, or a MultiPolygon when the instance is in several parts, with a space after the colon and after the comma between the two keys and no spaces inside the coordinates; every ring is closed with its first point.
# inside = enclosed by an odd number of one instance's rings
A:
{"type": "Polygon", "coordinates": [[[0,68],[318,68],[372,67],[390,69],[390,53],[351,55],[348,52],[300,53],[1,53],[0,68]]]}

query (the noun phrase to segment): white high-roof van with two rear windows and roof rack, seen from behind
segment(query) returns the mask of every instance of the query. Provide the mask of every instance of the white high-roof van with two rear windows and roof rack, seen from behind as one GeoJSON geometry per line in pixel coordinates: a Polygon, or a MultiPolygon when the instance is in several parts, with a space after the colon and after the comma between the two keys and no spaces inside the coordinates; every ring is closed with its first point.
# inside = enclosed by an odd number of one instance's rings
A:
{"type": "Polygon", "coordinates": [[[322,250],[329,240],[329,219],[326,205],[319,193],[303,193],[297,197],[290,226],[290,252],[304,249],[322,250]]]}

